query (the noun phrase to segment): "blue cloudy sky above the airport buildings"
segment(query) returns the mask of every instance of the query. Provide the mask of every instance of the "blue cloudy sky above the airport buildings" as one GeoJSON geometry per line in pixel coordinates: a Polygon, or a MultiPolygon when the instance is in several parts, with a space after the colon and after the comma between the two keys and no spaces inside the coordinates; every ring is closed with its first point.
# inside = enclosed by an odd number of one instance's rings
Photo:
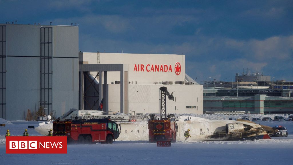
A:
{"type": "Polygon", "coordinates": [[[0,23],[78,25],[82,52],[183,54],[197,82],[293,81],[293,1],[0,0],[0,23]]]}

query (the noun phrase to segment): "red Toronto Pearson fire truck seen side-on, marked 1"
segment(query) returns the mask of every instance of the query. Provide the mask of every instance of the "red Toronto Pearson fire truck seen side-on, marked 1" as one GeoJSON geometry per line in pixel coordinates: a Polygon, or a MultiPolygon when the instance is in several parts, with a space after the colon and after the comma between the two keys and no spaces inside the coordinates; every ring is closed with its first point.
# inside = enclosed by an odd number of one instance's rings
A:
{"type": "Polygon", "coordinates": [[[67,136],[67,142],[84,143],[109,143],[119,137],[118,126],[121,125],[107,118],[57,120],[53,122],[53,136],[67,136]]]}

